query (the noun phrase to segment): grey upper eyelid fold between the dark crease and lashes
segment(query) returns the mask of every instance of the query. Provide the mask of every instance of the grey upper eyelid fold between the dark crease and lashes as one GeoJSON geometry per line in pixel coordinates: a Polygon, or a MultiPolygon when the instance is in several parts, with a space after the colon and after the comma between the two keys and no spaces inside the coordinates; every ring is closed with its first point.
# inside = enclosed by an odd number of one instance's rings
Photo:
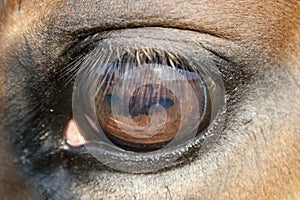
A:
{"type": "MultiPolygon", "coordinates": [[[[124,43],[125,46],[133,47],[133,48],[139,48],[139,46],[135,47],[135,43],[138,41],[139,45],[146,48],[151,48],[151,43],[154,43],[155,41],[166,41],[168,42],[167,46],[161,47],[165,50],[172,51],[172,44],[173,43],[183,43],[188,44],[189,46],[194,47],[194,49],[190,50],[190,53],[196,53],[199,52],[199,50],[207,50],[215,54],[216,56],[222,57],[223,59],[227,59],[226,57],[232,58],[230,56],[229,46],[231,46],[232,49],[237,48],[236,45],[234,45],[233,42],[229,42],[227,40],[222,39],[216,39],[214,36],[207,35],[207,34],[201,34],[198,32],[193,31],[183,31],[178,29],[171,29],[171,33],[175,32],[176,34],[170,34],[169,28],[161,28],[161,27],[145,27],[145,28],[137,28],[137,29],[123,29],[123,30],[115,30],[115,31],[104,31],[97,34],[88,35],[87,37],[80,39],[77,44],[74,44],[74,46],[80,46],[79,50],[82,48],[81,46],[95,47],[97,43],[101,42],[101,40],[105,39],[113,39],[116,37],[122,36],[123,39],[126,39],[126,43],[124,43]],[[140,31],[143,30],[143,31],[140,31]],[[147,31],[147,35],[144,34],[144,31],[147,31]],[[161,32],[161,34],[151,34],[152,30],[158,30],[161,32]],[[121,34],[120,34],[121,32],[121,34]],[[125,32],[125,34],[122,34],[122,32],[125,32]],[[139,33],[140,32],[140,33],[139,33]],[[117,36],[116,36],[117,34],[117,36]],[[140,38],[140,40],[136,40],[136,38],[140,38]],[[143,40],[146,40],[143,42],[143,40]],[[222,44],[222,43],[227,44],[222,44]],[[129,43],[129,44],[128,44],[129,43]],[[131,43],[131,44],[130,44],[131,43]],[[171,46],[170,46],[171,45],[171,46]],[[226,48],[223,50],[220,48],[221,46],[224,46],[226,48]],[[219,52],[219,53],[218,53],[219,52]],[[226,53],[225,53],[226,52],[226,53]]],[[[112,43],[113,46],[113,43],[112,43]]],[[[78,48],[77,48],[78,49],[78,48]]],[[[229,58],[229,59],[230,59],[229,58]]],[[[228,59],[228,60],[229,60],[228,59]]]]}

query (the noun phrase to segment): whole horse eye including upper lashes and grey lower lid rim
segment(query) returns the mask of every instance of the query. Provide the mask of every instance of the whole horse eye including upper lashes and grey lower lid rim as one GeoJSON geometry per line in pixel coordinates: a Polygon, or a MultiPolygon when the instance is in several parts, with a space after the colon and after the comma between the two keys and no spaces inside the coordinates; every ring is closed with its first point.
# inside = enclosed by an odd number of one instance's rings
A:
{"type": "Polygon", "coordinates": [[[127,172],[180,163],[189,147],[212,135],[224,105],[220,73],[182,47],[171,53],[114,45],[101,41],[76,77],[73,116],[85,148],[127,172]]]}

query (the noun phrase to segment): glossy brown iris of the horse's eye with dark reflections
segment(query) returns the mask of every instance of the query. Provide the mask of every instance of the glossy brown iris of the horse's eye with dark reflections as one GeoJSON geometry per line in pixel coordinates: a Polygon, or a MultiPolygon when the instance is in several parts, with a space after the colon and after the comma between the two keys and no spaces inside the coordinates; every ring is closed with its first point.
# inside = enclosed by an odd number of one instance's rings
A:
{"type": "Polygon", "coordinates": [[[174,70],[164,70],[157,77],[157,70],[150,69],[126,79],[118,69],[100,77],[97,119],[106,136],[127,150],[156,150],[208,125],[207,94],[200,76],[186,72],[176,78],[174,70]]]}

